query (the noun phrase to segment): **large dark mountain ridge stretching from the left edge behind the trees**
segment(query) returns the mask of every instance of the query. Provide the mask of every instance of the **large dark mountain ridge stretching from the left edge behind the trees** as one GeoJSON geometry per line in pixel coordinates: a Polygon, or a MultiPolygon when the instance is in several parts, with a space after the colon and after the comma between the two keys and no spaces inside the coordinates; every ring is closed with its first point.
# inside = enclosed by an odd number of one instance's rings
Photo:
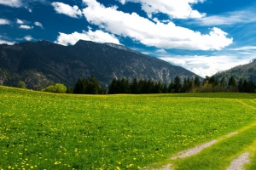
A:
{"type": "Polygon", "coordinates": [[[125,46],[79,40],[73,46],[48,41],[0,45],[0,84],[45,88],[61,82],[73,86],[79,77],[94,74],[108,88],[114,77],[170,82],[176,76],[195,77],[180,66],[149,57],[125,46]]]}

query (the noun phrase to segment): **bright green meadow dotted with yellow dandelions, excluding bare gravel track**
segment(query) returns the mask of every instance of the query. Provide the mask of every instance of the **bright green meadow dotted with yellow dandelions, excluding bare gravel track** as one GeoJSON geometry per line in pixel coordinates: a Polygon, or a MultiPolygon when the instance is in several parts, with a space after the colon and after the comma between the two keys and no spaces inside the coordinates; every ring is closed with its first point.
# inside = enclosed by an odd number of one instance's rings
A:
{"type": "Polygon", "coordinates": [[[254,122],[256,94],[74,95],[0,86],[0,170],[225,169],[243,151],[247,169],[255,169],[254,122]],[[170,159],[232,132],[239,133],[198,155],[170,159]]]}

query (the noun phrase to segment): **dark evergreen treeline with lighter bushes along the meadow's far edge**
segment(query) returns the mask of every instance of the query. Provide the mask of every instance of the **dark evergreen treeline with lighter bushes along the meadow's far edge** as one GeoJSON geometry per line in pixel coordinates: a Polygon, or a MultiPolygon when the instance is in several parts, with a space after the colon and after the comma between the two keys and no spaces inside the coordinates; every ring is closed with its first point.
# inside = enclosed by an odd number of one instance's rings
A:
{"type": "MultiPolygon", "coordinates": [[[[20,88],[26,88],[25,82],[19,82],[20,88]]],[[[130,82],[125,77],[113,78],[108,90],[102,88],[94,75],[90,80],[86,77],[79,78],[74,88],[66,87],[61,83],[48,85],[42,91],[52,93],[67,94],[171,94],[171,93],[212,93],[212,92],[241,92],[256,93],[255,82],[240,79],[236,82],[235,77],[231,76],[229,80],[222,77],[218,80],[216,77],[206,77],[202,82],[199,77],[184,78],[175,77],[168,84],[160,81],[137,79],[135,77],[130,82]]],[[[35,90],[38,90],[36,87],[35,90]]]]}

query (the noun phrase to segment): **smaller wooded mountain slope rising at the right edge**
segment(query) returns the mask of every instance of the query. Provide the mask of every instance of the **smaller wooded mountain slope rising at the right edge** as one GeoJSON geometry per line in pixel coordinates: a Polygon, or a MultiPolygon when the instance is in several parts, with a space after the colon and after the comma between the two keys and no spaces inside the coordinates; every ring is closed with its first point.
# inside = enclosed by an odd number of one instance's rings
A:
{"type": "Polygon", "coordinates": [[[214,75],[216,78],[220,79],[225,77],[229,80],[231,76],[236,78],[236,82],[242,78],[243,80],[256,82],[256,59],[247,65],[238,65],[228,71],[221,71],[214,75]]]}

